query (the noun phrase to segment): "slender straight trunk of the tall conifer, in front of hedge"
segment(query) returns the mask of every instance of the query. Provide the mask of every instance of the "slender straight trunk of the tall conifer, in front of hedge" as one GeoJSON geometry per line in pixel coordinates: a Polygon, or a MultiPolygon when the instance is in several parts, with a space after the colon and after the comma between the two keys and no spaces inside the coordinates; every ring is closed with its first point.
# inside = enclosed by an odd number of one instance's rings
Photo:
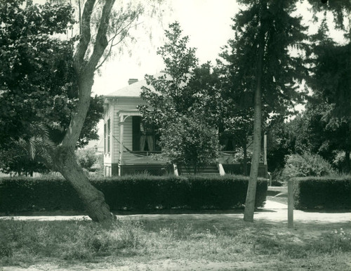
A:
{"type": "MultiPolygon", "coordinates": [[[[266,3],[262,1],[262,9],[267,8],[266,3]]],[[[251,160],[251,171],[249,186],[247,188],[244,220],[253,222],[253,213],[255,211],[256,185],[258,178],[258,164],[260,162],[261,151],[261,122],[262,122],[262,76],[263,76],[263,55],[265,50],[265,32],[263,31],[262,12],[260,15],[260,29],[258,33],[258,59],[256,65],[256,91],[254,97],[254,119],[253,119],[253,154],[251,160]]]]}

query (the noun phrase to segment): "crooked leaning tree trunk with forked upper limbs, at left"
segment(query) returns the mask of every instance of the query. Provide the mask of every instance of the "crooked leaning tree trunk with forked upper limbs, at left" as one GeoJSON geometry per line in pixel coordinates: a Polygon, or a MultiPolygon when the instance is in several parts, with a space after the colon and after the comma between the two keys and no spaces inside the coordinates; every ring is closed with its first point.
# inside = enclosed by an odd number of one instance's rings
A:
{"type": "Polygon", "coordinates": [[[95,69],[108,45],[106,33],[113,4],[114,0],[105,0],[98,32],[93,44],[93,53],[91,53],[88,60],[86,60],[86,51],[91,42],[91,15],[95,0],[87,0],[84,5],[81,17],[81,35],[73,63],[74,71],[77,75],[79,102],[72,113],[72,118],[62,143],[55,150],[51,151],[55,168],[72,184],[74,190],[77,191],[79,197],[83,200],[88,216],[97,222],[113,220],[114,216],[110,213],[109,206],[105,204],[102,192],[91,185],[83,170],[77,164],[74,148],[79,140],[81,128],[83,128],[86,113],[88,112],[95,69]]]}

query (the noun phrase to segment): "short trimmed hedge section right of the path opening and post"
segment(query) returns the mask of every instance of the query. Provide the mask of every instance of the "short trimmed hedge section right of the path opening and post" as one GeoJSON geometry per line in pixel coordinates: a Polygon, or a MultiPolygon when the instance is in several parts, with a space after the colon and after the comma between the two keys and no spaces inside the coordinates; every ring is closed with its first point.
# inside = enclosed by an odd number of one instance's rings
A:
{"type": "Polygon", "coordinates": [[[293,178],[296,209],[351,209],[351,176],[293,178]]]}

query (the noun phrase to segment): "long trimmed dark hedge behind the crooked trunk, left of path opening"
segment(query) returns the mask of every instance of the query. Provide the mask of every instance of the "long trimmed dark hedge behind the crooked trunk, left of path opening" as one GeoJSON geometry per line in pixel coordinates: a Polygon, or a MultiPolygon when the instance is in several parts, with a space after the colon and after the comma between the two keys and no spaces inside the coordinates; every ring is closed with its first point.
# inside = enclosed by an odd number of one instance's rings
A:
{"type": "MultiPolygon", "coordinates": [[[[241,208],[249,182],[244,176],[124,176],[93,179],[113,210],[241,208]]],[[[256,207],[263,206],[267,180],[259,179],[256,207]]],[[[0,212],[83,211],[71,185],[60,178],[0,180],[0,212]]]]}

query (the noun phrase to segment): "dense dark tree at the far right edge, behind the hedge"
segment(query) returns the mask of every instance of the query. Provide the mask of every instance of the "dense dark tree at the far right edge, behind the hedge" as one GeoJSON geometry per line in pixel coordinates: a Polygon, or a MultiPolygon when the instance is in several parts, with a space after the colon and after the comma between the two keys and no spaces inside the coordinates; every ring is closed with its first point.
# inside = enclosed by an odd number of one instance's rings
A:
{"type": "Polygon", "coordinates": [[[312,98],[307,108],[308,115],[320,116],[324,124],[323,143],[319,152],[329,153],[330,149],[345,153],[344,171],[351,172],[351,2],[329,1],[327,5],[310,1],[314,11],[324,11],[317,34],[310,37],[310,77],[307,84],[312,88],[312,98]],[[333,15],[333,24],[328,24],[326,15],[333,15]],[[348,19],[348,20],[347,20],[348,19]],[[344,32],[344,41],[333,41],[329,28],[344,32]]]}

